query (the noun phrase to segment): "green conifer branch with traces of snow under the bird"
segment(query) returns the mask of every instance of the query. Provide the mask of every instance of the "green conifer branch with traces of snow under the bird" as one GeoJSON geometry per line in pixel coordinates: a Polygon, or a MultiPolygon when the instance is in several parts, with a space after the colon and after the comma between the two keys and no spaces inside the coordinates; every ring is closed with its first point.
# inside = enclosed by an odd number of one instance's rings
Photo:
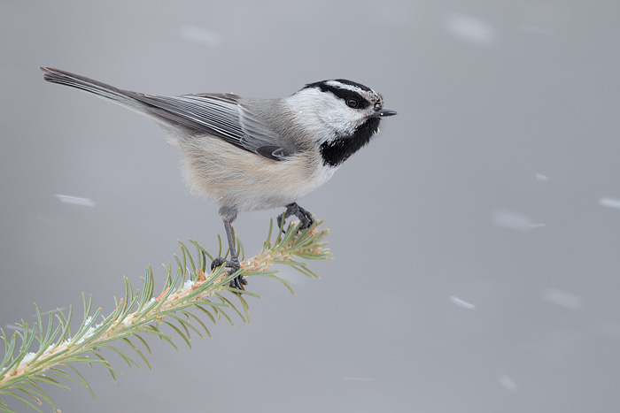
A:
{"type": "MultiPolygon", "coordinates": [[[[286,232],[280,232],[272,243],[272,221],[263,249],[247,260],[244,259],[243,245],[236,239],[244,277],[275,279],[291,293],[290,282],[275,275],[278,271],[271,270],[273,264],[287,264],[308,277],[318,278],[306,263],[297,259],[331,258],[329,249],[325,248],[327,242],[323,241],[329,230],[321,230],[321,224],[322,221],[315,222],[306,230],[299,229],[301,224],[288,226],[286,232]]],[[[142,368],[142,365],[146,365],[151,369],[147,359],[151,355],[151,348],[142,337],[145,334],[157,336],[178,350],[174,343],[175,337],[180,337],[190,348],[191,334],[196,333],[204,338],[205,333],[211,337],[205,320],[214,324],[223,317],[234,325],[226,310],[235,311],[244,323],[249,322],[250,312],[244,295],[260,295],[229,287],[229,282],[238,273],[228,274],[224,265],[207,275],[205,270],[213,261],[213,256],[197,241],[190,241],[196,249],[193,256],[185,244],[181,241],[179,243],[182,254],[174,255],[178,268],[173,276],[171,264],[164,266],[167,278],[159,295],[153,294],[155,282],[149,265],[142,289],[134,291],[129,279],[125,278],[125,296],[118,301],[114,299],[115,309],[108,316],[102,315],[101,308],[93,310],[92,296],[87,298],[82,294],[83,317],[74,333],[71,330],[74,318],[72,307],[66,313],[59,309],[51,311],[44,322],[36,304],[36,320],[32,325],[22,319],[17,324],[19,330],[12,336],[0,328],[0,340],[4,343],[4,358],[0,361],[0,412],[13,412],[7,402],[9,398],[19,400],[39,412],[42,411],[40,407],[43,402],[59,411],[43,389],[48,385],[63,389],[69,389],[67,384],[71,383],[85,386],[94,400],[93,390],[75,366],[79,363],[86,363],[90,367],[101,365],[116,380],[120,371],[100,354],[104,348],[120,356],[129,367],[135,365],[142,368]],[[222,295],[226,291],[233,293],[233,301],[238,300],[241,310],[238,304],[236,306],[222,295]],[[129,353],[131,356],[128,356],[129,353]]]]}

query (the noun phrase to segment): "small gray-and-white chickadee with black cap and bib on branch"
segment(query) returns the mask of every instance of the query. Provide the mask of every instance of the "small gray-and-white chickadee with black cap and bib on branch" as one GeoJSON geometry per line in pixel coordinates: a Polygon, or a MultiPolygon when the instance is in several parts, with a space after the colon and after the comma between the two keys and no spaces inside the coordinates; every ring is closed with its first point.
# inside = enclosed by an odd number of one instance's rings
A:
{"type": "MultiPolygon", "coordinates": [[[[257,99],[201,93],[156,96],[114,88],[51,67],[43,78],[78,88],[148,115],[167,129],[183,153],[193,191],[220,205],[229,242],[230,273],[240,269],[231,224],[239,212],[286,207],[283,225],[295,215],[302,228],[314,222],[296,203],[321,187],[378,132],[381,118],[395,115],[371,88],[351,80],[323,80],[291,96],[257,99]]],[[[230,287],[244,290],[239,274],[230,287]]]]}

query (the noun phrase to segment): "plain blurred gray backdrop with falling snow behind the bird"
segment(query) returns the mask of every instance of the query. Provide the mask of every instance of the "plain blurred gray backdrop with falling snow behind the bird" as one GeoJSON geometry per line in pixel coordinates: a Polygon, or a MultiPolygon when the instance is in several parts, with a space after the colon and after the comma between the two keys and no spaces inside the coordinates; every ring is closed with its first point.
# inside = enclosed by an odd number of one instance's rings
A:
{"type": "MultiPolygon", "coordinates": [[[[149,119],[37,66],[153,94],[286,96],[344,77],[399,115],[301,205],[327,220],[321,280],[251,279],[220,324],[154,371],[84,371],[63,412],[617,411],[617,2],[15,2],[0,12],[0,323],[107,314],[177,239],[214,249],[149,119]],[[53,3],[53,4],[52,4],[53,3]],[[94,206],[61,203],[89,198],[94,206]]],[[[248,253],[268,218],[236,221],[248,253]]],[[[19,409],[26,409],[19,407],[19,409]]],[[[47,408],[46,408],[47,409],[47,408]]]]}

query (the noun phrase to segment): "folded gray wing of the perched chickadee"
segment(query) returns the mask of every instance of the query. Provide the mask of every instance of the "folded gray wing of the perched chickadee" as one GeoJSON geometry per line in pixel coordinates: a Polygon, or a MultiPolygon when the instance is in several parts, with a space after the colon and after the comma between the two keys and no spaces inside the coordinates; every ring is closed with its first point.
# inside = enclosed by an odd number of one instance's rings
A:
{"type": "Polygon", "coordinates": [[[123,90],[146,103],[146,110],[191,130],[210,134],[261,157],[282,160],[294,149],[283,145],[282,138],[264,125],[231,94],[152,96],[123,90]]]}

